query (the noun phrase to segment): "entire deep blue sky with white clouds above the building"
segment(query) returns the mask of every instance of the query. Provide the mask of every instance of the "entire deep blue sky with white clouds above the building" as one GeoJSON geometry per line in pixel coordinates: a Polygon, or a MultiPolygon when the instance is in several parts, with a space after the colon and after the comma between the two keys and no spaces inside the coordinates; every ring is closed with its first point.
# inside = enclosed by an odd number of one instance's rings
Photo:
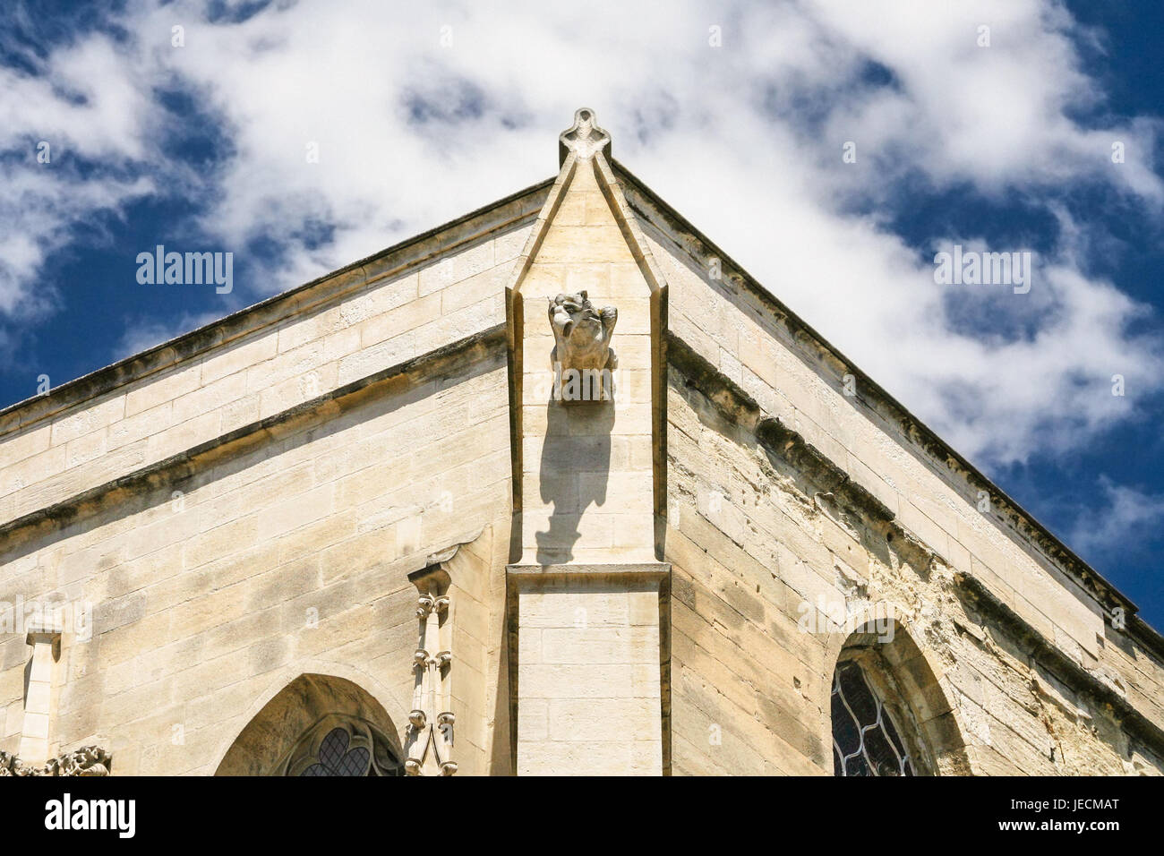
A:
{"type": "Polygon", "coordinates": [[[1164,627],[1159,2],[389,6],[3,6],[0,405],[551,176],[585,105],[1164,627]],[[139,284],[158,243],[233,291],[139,284]],[[1030,291],[936,283],[956,243],[1030,291]]]}

